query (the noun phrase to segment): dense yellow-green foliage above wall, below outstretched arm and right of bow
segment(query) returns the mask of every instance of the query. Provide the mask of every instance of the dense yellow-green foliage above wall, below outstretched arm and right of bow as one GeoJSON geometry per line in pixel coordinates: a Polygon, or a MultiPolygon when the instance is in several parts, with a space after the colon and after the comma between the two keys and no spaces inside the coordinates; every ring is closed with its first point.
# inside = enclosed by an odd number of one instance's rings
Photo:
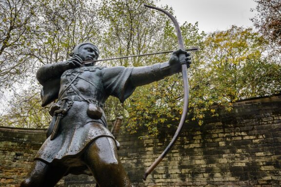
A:
{"type": "MultiPolygon", "coordinates": [[[[239,99],[280,92],[281,66],[262,56],[266,42],[251,28],[232,26],[206,36],[198,32],[197,25],[185,23],[182,33],[186,46],[201,47],[193,54],[188,71],[189,116],[199,125],[206,112],[218,115],[213,105],[230,111],[231,103],[239,99]]],[[[125,128],[131,132],[146,129],[146,134],[157,135],[161,128],[177,124],[182,87],[181,75],[173,75],[135,91],[125,107],[130,114],[125,128]]]]}

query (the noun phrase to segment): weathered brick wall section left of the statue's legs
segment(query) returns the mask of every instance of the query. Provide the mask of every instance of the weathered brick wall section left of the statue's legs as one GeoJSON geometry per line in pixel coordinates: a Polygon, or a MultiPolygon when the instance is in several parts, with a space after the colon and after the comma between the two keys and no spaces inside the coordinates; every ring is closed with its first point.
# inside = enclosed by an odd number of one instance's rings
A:
{"type": "Polygon", "coordinates": [[[0,186],[17,187],[44,142],[44,130],[0,128],[0,186]]]}

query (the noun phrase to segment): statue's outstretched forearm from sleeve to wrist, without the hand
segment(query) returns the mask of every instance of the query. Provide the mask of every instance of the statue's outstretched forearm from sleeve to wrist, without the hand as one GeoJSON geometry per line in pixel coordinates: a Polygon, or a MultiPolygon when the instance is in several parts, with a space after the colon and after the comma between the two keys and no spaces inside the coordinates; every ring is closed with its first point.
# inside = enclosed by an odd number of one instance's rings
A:
{"type": "Polygon", "coordinates": [[[180,64],[170,65],[169,62],[163,62],[151,66],[135,67],[130,79],[131,83],[137,87],[161,80],[180,71],[180,64]]]}

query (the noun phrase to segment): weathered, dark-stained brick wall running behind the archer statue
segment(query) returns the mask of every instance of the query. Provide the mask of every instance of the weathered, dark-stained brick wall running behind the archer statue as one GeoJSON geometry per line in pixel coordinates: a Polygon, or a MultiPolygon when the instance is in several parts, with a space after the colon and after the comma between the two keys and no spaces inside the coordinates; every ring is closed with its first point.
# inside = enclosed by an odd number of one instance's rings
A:
{"type": "MultiPolygon", "coordinates": [[[[135,187],[280,187],[281,95],[234,103],[231,112],[186,124],[174,149],[142,181],[175,130],[158,139],[121,134],[119,155],[135,187]]],[[[0,128],[0,186],[18,187],[45,139],[44,130],[0,128]]],[[[68,175],[58,187],[95,187],[68,175]]]]}

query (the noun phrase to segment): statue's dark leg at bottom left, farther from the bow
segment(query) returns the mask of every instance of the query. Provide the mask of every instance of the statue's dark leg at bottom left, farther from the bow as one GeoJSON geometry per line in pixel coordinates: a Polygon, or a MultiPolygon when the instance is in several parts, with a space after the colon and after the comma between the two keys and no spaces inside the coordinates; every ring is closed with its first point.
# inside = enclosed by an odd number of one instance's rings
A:
{"type": "Polygon", "coordinates": [[[35,160],[20,187],[54,187],[66,171],[67,168],[50,166],[40,160],[35,160]]]}

